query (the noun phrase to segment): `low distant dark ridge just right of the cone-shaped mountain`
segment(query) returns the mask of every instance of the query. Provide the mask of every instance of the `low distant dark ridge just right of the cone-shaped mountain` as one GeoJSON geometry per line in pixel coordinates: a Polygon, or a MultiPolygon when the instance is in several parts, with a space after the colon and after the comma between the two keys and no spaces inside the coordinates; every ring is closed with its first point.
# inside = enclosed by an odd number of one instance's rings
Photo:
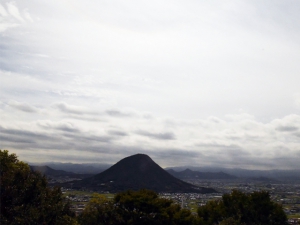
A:
{"type": "Polygon", "coordinates": [[[173,175],[174,177],[177,177],[179,179],[236,179],[236,176],[232,176],[223,172],[199,172],[199,171],[193,171],[190,169],[185,169],[180,172],[176,172],[173,169],[166,170],[168,173],[173,175]]]}

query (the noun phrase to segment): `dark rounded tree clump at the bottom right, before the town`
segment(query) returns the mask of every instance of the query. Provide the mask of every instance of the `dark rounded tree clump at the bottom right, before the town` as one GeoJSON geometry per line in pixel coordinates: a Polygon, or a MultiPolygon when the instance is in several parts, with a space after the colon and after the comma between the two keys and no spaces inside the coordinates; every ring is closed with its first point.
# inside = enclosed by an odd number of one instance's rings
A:
{"type": "Polygon", "coordinates": [[[281,205],[272,202],[266,191],[245,194],[234,190],[222,200],[198,208],[204,224],[284,225],[287,217],[281,205]]]}

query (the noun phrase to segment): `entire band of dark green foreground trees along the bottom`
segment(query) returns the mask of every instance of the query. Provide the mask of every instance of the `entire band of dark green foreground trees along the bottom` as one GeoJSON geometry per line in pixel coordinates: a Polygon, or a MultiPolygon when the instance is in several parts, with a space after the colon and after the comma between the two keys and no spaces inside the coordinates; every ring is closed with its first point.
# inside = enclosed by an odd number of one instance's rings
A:
{"type": "MultiPolygon", "coordinates": [[[[15,154],[0,150],[1,215],[4,224],[63,225],[284,225],[282,206],[272,202],[266,191],[245,194],[234,190],[222,199],[198,207],[189,203],[181,209],[172,200],[150,190],[113,194],[68,191],[48,187],[40,173],[30,170],[15,154]],[[75,217],[65,196],[87,195],[89,202],[75,217]],[[195,213],[197,211],[197,213],[195,213]]],[[[86,200],[87,201],[87,200],[86,200]]]]}

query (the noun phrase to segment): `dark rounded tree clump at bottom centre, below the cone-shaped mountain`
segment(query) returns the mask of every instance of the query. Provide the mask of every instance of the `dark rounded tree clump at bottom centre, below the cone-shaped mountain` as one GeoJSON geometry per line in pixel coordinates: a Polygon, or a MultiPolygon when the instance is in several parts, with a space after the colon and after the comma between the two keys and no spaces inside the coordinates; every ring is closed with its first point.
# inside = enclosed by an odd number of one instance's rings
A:
{"type": "Polygon", "coordinates": [[[79,222],[88,225],[192,225],[196,217],[172,200],[159,198],[154,191],[143,189],[118,193],[111,202],[97,202],[92,198],[79,222]]]}

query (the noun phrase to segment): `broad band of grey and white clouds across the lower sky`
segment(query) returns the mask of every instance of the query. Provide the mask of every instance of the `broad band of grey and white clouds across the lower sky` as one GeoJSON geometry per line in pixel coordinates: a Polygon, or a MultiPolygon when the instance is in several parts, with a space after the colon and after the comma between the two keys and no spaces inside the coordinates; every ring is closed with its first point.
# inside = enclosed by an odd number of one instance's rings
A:
{"type": "Polygon", "coordinates": [[[2,146],[33,161],[114,163],[141,152],[164,166],[291,169],[300,163],[296,114],[262,123],[245,113],[176,120],[143,112],[95,113],[62,102],[45,108],[20,102],[2,107],[6,112],[0,127],[2,146]],[[76,110],[53,107],[61,105],[76,110]],[[14,121],[16,117],[22,119],[14,121]]]}

